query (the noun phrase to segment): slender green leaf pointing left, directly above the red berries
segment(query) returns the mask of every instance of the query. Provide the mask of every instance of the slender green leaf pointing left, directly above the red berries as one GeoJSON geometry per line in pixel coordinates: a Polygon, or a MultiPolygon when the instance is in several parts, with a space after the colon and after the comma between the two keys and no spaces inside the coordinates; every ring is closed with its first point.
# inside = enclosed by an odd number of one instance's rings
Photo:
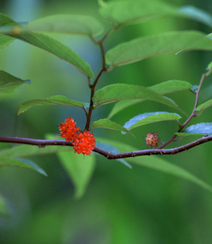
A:
{"type": "Polygon", "coordinates": [[[67,106],[75,106],[75,107],[83,108],[85,104],[82,102],[71,100],[65,96],[56,95],[44,99],[35,99],[35,100],[30,100],[22,103],[18,109],[18,115],[24,113],[25,111],[27,111],[32,107],[47,106],[47,105],[67,105],[67,106]]]}

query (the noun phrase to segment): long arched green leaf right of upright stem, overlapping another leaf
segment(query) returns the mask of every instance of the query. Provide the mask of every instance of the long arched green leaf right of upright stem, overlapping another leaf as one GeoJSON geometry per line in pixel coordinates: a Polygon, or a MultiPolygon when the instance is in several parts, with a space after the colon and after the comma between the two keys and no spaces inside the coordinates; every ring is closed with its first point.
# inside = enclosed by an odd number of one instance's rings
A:
{"type": "Polygon", "coordinates": [[[93,96],[93,102],[97,104],[95,108],[103,104],[130,99],[151,100],[178,109],[172,100],[143,86],[113,84],[96,91],[93,96]]]}

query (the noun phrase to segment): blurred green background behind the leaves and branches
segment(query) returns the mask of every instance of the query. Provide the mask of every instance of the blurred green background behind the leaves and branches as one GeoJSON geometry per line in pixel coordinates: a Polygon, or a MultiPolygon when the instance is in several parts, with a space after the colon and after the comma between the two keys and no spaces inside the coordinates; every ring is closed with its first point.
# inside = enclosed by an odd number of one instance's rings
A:
{"type": "MultiPolygon", "coordinates": [[[[192,4],[212,13],[209,0],[173,0],[172,3],[177,6],[192,4]]],[[[109,27],[98,14],[97,0],[5,0],[0,1],[0,5],[2,13],[19,22],[53,14],[86,14],[100,19],[106,29],[109,27]]],[[[156,19],[118,30],[106,42],[106,49],[138,36],[190,29],[211,32],[209,27],[192,20],[156,19]]],[[[95,74],[98,73],[100,52],[88,38],[66,35],[55,35],[55,38],[70,46],[91,65],[95,74]]],[[[210,52],[159,56],[103,74],[98,88],[112,83],[151,86],[171,79],[198,85],[210,61],[210,52]]],[[[18,40],[1,51],[0,65],[2,70],[14,76],[31,80],[30,85],[21,86],[15,93],[1,95],[1,135],[44,138],[47,133],[59,134],[59,123],[69,116],[77,121],[79,127],[84,127],[84,113],[74,107],[38,107],[17,117],[18,106],[30,99],[58,94],[73,100],[89,101],[87,80],[73,67],[18,40]]],[[[206,78],[200,103],[212,98],[211,81],[212,76],[206,78]]],[[[169,97],[188,114],[193,109],[194,96],[188,91],[169,97]]],[[[112,106],[109,104],[94,111],[93,121],[106,117],[112,106]]],[[[127,108],[112,120],[123,125],[137,114],[155,111],[173,112],[148,101],[127,108]]],[[[211,122],[211,112],[212,108],[208,108],[193,123],[211,122]]],[[[147,132],[157,132],[161,140],[166,141],[176,130],[174,122],[163,122],[135,129],[136,138],[103,129],[96,129],[94,134],[145,149],[147,132]]],[[[190,140],[183,139],[183,143],[190,140]]],[[[180,143],[174,144],[177,145],[180,143]]],[[[11,211],[10,217],[0,217],[0,243],[212,243],[212,195],[197,185],[137,165],[130,170],[118,161],[97,156],[88,189],[82,199],[75,200],[73,184],[55,155],[31,159],[47,172],[48,177],[18,168],[0,171],[0,193],[7,199],[11,211]]],[[[163,159],[212,185],[211,143],[163,159]]],[[[157,157],[149,157],[149,160],[157,163],[157,157]]]]}

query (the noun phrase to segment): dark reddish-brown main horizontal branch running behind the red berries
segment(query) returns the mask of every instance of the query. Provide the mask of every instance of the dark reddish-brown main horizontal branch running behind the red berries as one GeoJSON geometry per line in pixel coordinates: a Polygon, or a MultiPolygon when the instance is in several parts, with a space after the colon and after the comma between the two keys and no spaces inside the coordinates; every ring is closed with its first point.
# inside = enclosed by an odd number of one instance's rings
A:
{"type": "MultiPolygon", "coordinates": [[[[206,143],[208,141],[212,141],[211,136],[203,136],[202,138],[185,144],[180,147],[175,147],[171,149],[146,149],[146,150],[138,150],[131,152],[123,152],[123,153],[111,153],[100,147],[95,147],[94,152],[108,158],[108,159],[121,159],[121,158],[130,158],[130,157],[138,157],[138,156],[151,156],[151,155],[174,155],[190,148],[196,147],[200,144],[206,143]]],[[[40,148],[44,148],[45,146],[73,146],[71,142],[67,142],[64,140],[40,140],[40,139],[31,139],[31,138],[21,138],[21,137],[0,137],[0,142],[10,142],[10,143],[19,143],[19,144],[29,144],[35,145],[40,148]]]]}

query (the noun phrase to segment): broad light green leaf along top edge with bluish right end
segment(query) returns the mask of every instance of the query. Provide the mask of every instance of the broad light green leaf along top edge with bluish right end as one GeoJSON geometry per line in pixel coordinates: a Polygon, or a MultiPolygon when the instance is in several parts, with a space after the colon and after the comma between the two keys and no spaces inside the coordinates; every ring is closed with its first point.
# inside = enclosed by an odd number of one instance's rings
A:
{"type": "Polygon", "coordinates": [[[212,17],[205,11],[193,6],[177,8],[161,1],[99,1],[102,16],[113,22],[114,25],[122,26],[149,21],[165,16],[184,17],[194,19],[212,27],[212,17]]]}

